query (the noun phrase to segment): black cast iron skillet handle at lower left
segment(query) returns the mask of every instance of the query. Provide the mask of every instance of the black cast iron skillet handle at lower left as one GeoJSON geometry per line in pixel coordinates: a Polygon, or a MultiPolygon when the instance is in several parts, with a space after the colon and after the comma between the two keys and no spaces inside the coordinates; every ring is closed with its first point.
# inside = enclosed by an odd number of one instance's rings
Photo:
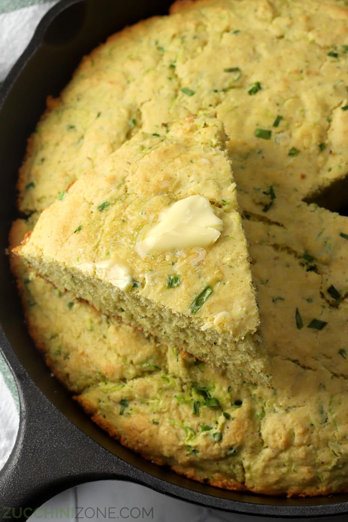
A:
{"type": "Polygon", "coordinates": [[[18,387],[20,422],[13,452],[0,471],[1,520],[25,520],[46,500],[82,482],[106,478],[142,482],[135,477],[138,470],[94,442],[52,405],[13,352],[9,359],[18,387]]]}

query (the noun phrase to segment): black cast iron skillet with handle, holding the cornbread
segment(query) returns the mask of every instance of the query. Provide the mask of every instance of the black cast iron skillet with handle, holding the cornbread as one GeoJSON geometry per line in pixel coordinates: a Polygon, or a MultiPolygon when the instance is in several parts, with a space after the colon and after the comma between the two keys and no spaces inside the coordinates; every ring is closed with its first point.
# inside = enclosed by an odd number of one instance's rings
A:
{"type": "MultiPolygon", "coordinates": [[[[348,495],[285,499],[235,493],[179,477],[113,441],[52,378],[35,350],[8,257],[10,222],[17,216],[15,183],[26,140],[83,54],[107,35],[142,18],[166,14],[171,0],[62,0],[41,21],[11,70],[0,98],[0,348],[20,400],[16,446],[0,473],[0,506],[35,508],[81,482],[122,479],[196,504],[250,515],[311,517],[348,513],[348,495]]],[[[27,511],[27,514],[30,512],[27,511]]]]}

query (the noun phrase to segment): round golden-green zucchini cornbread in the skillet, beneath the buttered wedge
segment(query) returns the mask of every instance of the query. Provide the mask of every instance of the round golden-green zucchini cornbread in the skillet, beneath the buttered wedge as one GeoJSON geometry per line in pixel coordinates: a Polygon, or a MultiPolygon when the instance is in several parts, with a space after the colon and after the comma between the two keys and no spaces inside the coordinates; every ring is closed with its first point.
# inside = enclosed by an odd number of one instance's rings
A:
{"type": "MultiPolygon", "coordinates": [[[[347,491],[348,219],[327,210],[346,204],[346,4],[199,0],[172,13],[111,37],[49,100],[19,206],[41,212],[140,129],[161,134],[179,117],[216,112],[230,137],[271,387],[135,340],[126,326],[121,334],[13,256],[31,335],[93,420],[159,464],[235,490],[347,491]]],[[[26,228],[14,223],[11,246],[26,228]]]]}

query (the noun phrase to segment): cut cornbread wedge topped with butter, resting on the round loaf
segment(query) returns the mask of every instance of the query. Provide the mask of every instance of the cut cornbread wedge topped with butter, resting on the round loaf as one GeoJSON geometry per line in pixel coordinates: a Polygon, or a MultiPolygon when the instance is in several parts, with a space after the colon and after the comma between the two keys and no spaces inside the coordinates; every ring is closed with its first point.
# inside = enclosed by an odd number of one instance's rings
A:
{"type": "Polygon", "coordinates": [[[59,195],[15,253],[98,310],[264,379],[225,139],[211,116],[137,134],[59,195]]]}

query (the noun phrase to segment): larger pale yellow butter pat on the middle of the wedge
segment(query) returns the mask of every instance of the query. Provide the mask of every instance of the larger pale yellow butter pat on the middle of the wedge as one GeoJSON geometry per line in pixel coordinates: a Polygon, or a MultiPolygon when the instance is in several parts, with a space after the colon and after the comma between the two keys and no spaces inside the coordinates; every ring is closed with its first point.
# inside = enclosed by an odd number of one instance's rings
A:
{"type": "Polygon", "coordinates": [[[162,211],[158,223],[139,238],[136,251],[145,256],[185,247],[207,247],[217,241],[222,227],[223,221],[215,216],[208,199],[189,196],[162,211]]]}

